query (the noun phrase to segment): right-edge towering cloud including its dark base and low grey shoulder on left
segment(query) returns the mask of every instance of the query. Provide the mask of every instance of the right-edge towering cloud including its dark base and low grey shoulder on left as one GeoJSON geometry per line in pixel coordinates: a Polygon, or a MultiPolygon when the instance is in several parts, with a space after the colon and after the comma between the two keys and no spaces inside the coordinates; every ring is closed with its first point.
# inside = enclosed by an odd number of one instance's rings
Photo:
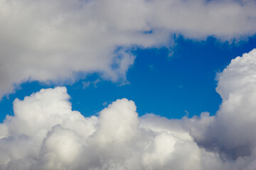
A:
{"type": "Polygon", "coordinates": [[[243,169],[256,164],[255,66],[256,49],[232,60],[219,77],[216,89],[223,103],[216,116],[188,120],[198,144],[240,162],[243,169]]]}

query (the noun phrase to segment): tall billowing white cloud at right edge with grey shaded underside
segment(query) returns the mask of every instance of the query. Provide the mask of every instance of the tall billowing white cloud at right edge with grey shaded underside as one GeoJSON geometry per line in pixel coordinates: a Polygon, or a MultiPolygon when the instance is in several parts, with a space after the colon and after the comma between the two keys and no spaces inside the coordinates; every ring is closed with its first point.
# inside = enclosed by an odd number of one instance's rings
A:
{"type": "MultiPolygon", "coordinates": [[[[220,74],[216,90],[223,103],[212,125],[213,142],[234,159],[249,157],[255,150],[256,136],[256,49],[236,57],[220,74]],[[222,131],[221,134],[218,132],[222,131]]],[[[210,139],[210,137],[208,138],[210,139]]],[[[253,164],[255,164],[254,162],[253,164]]]]}

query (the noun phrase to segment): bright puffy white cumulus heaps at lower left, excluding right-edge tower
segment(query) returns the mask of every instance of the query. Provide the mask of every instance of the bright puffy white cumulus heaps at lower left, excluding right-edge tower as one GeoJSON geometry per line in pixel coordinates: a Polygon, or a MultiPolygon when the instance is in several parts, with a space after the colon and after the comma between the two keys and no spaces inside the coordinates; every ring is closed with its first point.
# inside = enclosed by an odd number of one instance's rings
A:
{"type": "Polygon", "coordinates": [[[133,101],[117,100],[99,117],[84,118],[68,98],[57,87],[14,101],[14,117],[1,124],[1,169],[201,169],[205,154],[220,161],[188,132],[144,128],[133,101]]]}

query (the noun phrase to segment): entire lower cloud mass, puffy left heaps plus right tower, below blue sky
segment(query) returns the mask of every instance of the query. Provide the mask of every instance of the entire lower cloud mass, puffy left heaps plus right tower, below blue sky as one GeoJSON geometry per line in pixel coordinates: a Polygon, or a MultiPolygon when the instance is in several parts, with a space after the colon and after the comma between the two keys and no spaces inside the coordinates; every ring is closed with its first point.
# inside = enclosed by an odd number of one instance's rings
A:
{"type": "Polygon", "coordinates": [[[215,116],[138,117],[123,98],[85,118],[65,87],[16,99],[14,116],[0,124],[0,169],[254,170],[255,64],[252,50],[220,74],[215,116]]]}

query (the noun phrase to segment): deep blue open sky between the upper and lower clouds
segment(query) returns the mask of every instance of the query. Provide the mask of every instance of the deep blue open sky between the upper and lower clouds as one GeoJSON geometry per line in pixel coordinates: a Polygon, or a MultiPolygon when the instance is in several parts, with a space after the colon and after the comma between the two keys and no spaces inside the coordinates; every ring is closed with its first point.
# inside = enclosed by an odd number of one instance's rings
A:
{"type": "MultiPolygon", "coordinates": [[[[154,113],[166,118],[182,118],[204,111],[215,115],[222,101],[215,91],[216,74],[222,72],[230,60],[252,50],[255,44],[255,36],[239,42],[222,42],[215,38],[188,40],[180,36],[171,47],[174,52],[171,56],[166,47],[132,50],[136,60],[127,72],[129,84],[89,74],[66,87],[73,110],[85,116],[97,115],[118,98],[134,101],[139,115],[154,113]],[[90,85],[84,87],[83,82],[89,81],[90,85]]],[[[12,102],[15,98],[22,100],[33,92],[54,86],[38,81],[21,84],[14,94],[2,99],[1,121],[6,114],[14,114],[12,102]]]]}

